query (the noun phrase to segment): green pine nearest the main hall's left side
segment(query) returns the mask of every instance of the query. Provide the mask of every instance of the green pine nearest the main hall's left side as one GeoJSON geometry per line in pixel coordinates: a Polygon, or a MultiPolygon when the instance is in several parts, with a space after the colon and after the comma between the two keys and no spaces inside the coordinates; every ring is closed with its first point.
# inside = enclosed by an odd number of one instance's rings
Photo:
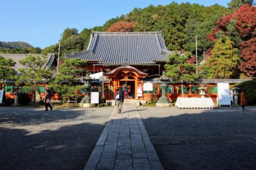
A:
{"type": "Polygon", "coordinates": [[[69,101],[70,97],[77,99],[77,90],[83,89],[81,78],[84,76],[86,61],[81,59],[67,59],[60,65],[59,73],[50,87],[58,92],[62,99],[69,101]]]}

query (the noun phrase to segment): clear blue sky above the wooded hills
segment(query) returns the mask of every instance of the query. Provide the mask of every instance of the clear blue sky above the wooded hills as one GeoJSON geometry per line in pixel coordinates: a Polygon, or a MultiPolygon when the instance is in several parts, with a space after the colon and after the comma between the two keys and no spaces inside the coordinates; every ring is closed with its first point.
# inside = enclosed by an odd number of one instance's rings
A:
{"type": "MultiPolygon", "coordinates": [[[[204,6],[221,4],[230,0],[177,0],[204,6]]],[[[1,1],[0,41],[24,41],[44,48],[58,42],[60,29],[75,27],[82,31],[103,25],[107,20],[129,13],[133,8],[145,8],[150,4],[170,4],[167,0],[5,0],[1,1]]]]}

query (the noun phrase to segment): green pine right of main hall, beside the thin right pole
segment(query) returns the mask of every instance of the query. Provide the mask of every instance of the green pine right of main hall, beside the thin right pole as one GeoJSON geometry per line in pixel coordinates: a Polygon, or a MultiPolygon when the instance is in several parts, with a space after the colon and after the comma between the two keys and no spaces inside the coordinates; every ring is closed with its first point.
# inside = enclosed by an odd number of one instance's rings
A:
{"type": "Polygon", "coordinates": [[[185,54],[175,52],[168,56],[166,64],[164,65],[166,76],[169,76],[174,82],[182,83],[182,94],[184,94],[183,82],[188,81],[191,84],[198,78],[198,75],[195,74],[195,64],[188,63],[188,60],[191,57],[191,53],[188,52],[185,54]]]}

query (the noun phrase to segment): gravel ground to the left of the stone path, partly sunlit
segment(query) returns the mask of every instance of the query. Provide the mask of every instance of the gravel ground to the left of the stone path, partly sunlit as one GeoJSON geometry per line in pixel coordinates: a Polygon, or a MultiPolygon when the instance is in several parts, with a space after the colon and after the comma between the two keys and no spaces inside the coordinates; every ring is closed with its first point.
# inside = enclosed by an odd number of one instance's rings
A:
{"type": "Polygon", "coordinates": [[[83,169],[112,110],[0,107],[0,169],[83,169]]]}

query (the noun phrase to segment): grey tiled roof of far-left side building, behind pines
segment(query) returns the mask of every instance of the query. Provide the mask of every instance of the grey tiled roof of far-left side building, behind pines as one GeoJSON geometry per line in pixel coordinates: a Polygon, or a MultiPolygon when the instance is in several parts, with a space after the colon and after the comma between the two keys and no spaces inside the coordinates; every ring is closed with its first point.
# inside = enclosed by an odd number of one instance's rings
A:
{"type": "MultiPolygon", "coordinates": [[[[15,66],[13,66],[13,69],[17,71],[17,73],[20,73],[19,69],[24,68],[26,66],[23,66],[20,64],[19,60],[25,59],[28,55],[32,56],[42,56],[42,53],[0,53],[1,56],[3,56],[5,59],[12,59],[14,62],[16,62],[15,66]]],[[[47,62],[43,67],[51,67],[52,63],[54,62],[55,56],[54,53],[48,53],[47,54],[47,62]]]]}

